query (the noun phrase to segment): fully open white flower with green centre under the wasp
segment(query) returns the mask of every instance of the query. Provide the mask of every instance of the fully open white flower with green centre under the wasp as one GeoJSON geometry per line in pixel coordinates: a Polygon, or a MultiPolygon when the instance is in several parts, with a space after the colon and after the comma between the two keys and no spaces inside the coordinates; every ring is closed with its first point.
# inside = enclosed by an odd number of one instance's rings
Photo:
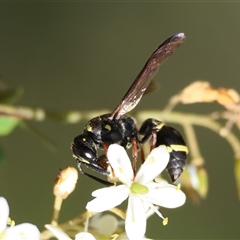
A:
{"type": "MultiPolygon", "coordinates": [[[[166,181],[154,179],[166,168],[169,152],[166,146],[151,151],[134,178],[131,161],[125,149],[117,144],[108,148],[108,160],[114,175],[122,185],[105,187],[92,193],[95,197],[86,208],[91,212],[103,212],[121,204],[128,197],[125,230],[129,239],[142,239],[146,232],[146,211],[152,208],[164,219],[155,206],[176,208],[184,204],[185,194],[178,187],[166,181]]],[[[167,223],[167,218],[163,221],[167,223]]]]}

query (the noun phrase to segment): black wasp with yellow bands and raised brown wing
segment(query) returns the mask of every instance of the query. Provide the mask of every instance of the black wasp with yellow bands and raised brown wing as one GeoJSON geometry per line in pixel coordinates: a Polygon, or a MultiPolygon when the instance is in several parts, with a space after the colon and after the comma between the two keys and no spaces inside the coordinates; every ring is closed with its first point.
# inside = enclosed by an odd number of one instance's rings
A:
{"type": "Polygon", "coordinates": [[[136,171],[137,152],[140,145],[152,139],[151,148],[161,144],[167,146],[170,153],[167,171],[173,182],[178,179],[183,171],[187,154],[187,147],[180,133],[156,119],[147,119],[138,130],[135,119],[125,114],[136,107],[144,93],[150,91],[151,80],[158,72],[160,65],[180,47],[184,40],[183,33],[166,39],[147,60],[114,111],[91,119],[86,124],[83,134],[74,138],[71,148],[81,173],[98,182],[111,185],[107,181],[83,172],[81,165],[102,175],[109,175],[107,157],[105,154],[98,157],[97,149],[103,149],[106,153],[110,144],[118,143],[125,149],[132,147],[133,170],[136,171]],[[139,135],[142,135],[141,140],[139,135]]]}

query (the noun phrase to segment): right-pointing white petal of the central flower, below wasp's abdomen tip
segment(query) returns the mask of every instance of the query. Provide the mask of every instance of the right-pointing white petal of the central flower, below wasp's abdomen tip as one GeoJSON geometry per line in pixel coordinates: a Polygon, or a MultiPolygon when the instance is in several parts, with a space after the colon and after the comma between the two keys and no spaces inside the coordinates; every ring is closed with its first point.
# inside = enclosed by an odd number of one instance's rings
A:
{"type": "Polygon", "coordinates": [[[143,196],[155,205],[176,208],[182,206],[186,201],[186,195],[174,185],[151,183],[147,186],[149,192],[143,196]]]}

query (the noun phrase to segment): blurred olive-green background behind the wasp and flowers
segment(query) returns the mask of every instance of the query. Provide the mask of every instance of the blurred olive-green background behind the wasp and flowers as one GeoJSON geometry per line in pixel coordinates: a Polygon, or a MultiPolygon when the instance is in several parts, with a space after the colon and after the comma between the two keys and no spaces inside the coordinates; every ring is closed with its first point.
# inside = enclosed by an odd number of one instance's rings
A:
{"type": "MultiPolygon", "coordinates": [[[[184,32],[187,41],[155,77],[160,91],[136,110],[161,109],[197,79],[240,91],[239,13],[239,3],[220,2],[0,3],[1,77],[10,87],[24,87],[19,105],[113,109],[153,50],[172,34],[184,32]]],[[[220,109],[215,104],[178,108],[198,113],[220,109]]],[[[52,216],[54,178],[60,167],[75,166],[70,143],[84,123],[34,125],[56,142],[56,151],[21,129],[2,138],[0,195],[7,198],[16,223],[32,222],[43,229],[52,216]]],[[[162,209],[169,224],[163,227],[157,216],[150,218],[148,237],[240,237],[231,148],[210,130],[197,130],[209,173],[208,197],[199,206],[187,201],[176,210],[162,209]]],[[[80,175],[75,192],[63,203],[60,221],[83,212],[99,187],[80,175]]]]}

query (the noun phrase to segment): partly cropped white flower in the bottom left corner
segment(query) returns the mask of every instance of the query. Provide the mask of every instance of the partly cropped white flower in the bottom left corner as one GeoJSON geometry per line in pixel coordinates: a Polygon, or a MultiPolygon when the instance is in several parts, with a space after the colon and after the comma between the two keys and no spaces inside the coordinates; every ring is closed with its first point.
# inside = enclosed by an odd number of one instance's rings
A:
{"type": "MultiPolygon", "coordinates": [[[[40,239],[38,228],[31,223],[9,226],[9,206],[4,197],[0,197],[0,239],[1,240],[37,240],[40,239]]],[[[11,225],[11,224],[10,224],[11,225]]]]}

